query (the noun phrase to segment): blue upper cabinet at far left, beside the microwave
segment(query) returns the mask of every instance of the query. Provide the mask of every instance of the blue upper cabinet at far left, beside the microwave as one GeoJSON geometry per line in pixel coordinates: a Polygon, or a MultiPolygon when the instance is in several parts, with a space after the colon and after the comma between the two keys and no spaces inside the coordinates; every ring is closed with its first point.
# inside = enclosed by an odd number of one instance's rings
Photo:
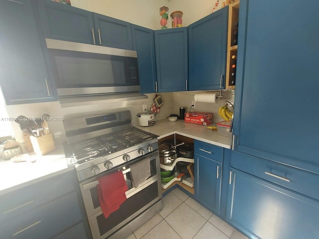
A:
{"type": "Polygon", "coordinates": [[[53,101],[31,0],[0,0],[0,84],[7,105],[53,101]]]}

